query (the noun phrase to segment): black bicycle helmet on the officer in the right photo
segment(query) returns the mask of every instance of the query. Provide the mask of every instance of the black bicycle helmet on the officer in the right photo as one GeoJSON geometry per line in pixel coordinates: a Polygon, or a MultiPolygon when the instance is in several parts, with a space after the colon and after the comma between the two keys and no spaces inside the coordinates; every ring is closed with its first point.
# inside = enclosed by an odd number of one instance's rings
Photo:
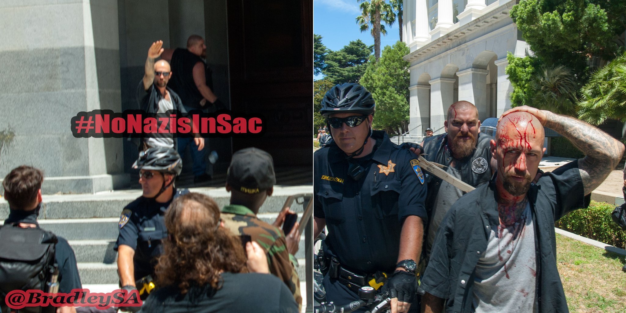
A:
{"type": "Polygon", "coordinates": [[[332,113],[361,113],[362,115],[374,114],[376,103],[372,94],[365,87],[344,83],[335,85],[322,99],[322,109],[319,113],[328,117],[332,113]]]}

